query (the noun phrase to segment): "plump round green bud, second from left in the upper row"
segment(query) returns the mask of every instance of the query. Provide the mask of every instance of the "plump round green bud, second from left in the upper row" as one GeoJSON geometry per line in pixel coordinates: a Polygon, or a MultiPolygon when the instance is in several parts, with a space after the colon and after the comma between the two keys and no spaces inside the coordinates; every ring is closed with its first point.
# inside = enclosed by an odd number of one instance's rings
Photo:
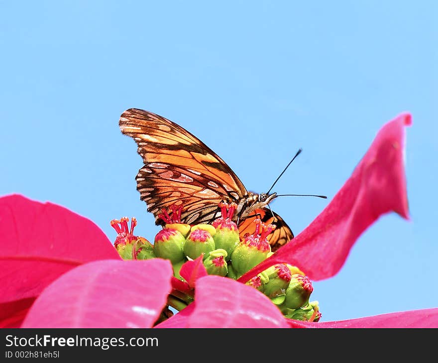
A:
{"type": "Polygon", "coordinates": [[[184,255],[185,242],[186,239],[180,231],[173,228],[163,228],[155,236],[155,255],[170,260],[172,264],[183,261],[186,257],[184,255]]]}

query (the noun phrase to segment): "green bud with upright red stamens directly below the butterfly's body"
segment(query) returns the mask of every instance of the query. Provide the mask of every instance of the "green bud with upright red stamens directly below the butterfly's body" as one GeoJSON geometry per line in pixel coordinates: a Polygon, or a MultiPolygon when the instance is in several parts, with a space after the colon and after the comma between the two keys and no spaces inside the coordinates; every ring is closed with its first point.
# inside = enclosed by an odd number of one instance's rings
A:
{"type": "Polygon", "coordinates": [[[219,203],[219,207],[222,212],[222,217],[216,219],[212,226],[216,228],[216,234],[213,235],[217,248],[225,250],[228,254],[226,261],[231,259],[231,253],[234,248],[239,244],[239,230],[237,225],[232,221],[232,216],[237,204],[231,203],[219,203]]]}

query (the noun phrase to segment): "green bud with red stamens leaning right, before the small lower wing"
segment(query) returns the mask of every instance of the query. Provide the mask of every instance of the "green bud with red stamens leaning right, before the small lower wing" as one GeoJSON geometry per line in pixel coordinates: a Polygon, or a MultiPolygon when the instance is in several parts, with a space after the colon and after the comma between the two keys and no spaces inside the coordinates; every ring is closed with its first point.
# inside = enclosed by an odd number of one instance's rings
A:
{"type": "Polygon", "coordinates": [[[257,224],[254,234],[246,236],[231,254],[231,264],[239,276],[257,266],[271,252],[266,236],[272,232],[274,226],[265,226],[260,219],[255,219],[254,222],[257,224]],[[259,234],[260,229],[262,232],[259,234]]]}

